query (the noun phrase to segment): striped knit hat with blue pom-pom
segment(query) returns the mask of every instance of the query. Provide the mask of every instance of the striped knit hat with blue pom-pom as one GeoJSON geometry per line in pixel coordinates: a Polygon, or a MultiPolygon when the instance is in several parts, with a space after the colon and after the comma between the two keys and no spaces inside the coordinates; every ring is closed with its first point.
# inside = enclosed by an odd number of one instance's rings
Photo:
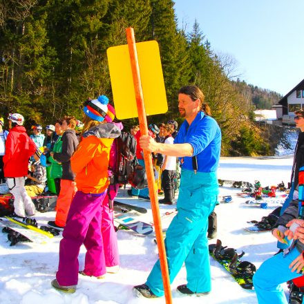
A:
{"type": "Polygon", "coordinates": [[[97,99],[88,100],[84,106],[84,113],[92,120],[97,122],[112,122],[115,117],[115,110],[111,104],[108,104],[108,97],[98,96],[97,99]]]}

